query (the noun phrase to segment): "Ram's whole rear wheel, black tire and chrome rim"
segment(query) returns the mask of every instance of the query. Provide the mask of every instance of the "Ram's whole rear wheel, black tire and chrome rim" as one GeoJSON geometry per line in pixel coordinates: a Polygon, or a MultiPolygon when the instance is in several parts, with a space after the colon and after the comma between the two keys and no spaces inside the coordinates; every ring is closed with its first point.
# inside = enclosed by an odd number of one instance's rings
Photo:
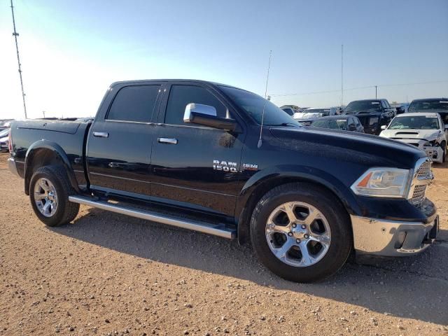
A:
{"type": "Polygon", "coordinates": [[[59,226],[75,219],[79,204],[69,202],[73,193],[64,169],[45,166],[34,172],[29,183],[29,198],[36,216],[48,226],[59,226]]]}

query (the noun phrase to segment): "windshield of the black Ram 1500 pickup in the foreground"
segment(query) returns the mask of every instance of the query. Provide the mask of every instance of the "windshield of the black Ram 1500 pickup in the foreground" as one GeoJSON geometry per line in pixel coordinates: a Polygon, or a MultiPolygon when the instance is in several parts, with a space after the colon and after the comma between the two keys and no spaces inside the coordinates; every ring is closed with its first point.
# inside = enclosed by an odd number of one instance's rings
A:
{"type": "Polygon", "coordinates": [[[221,89],[232,98],[235,103],[241,109],[244,109],[256,123],[261,125],[263,107],[265,109],[265,117],[263,120],[263,125],[267,126],[297,126],[297,123],[293,118],[291,118],[288,113],[281,110],[279,107],[275,106],[268,100],[260,97],[258,94],[236,89],[235,87],[228,87],[224,85],[219,85],[221,89]]]}

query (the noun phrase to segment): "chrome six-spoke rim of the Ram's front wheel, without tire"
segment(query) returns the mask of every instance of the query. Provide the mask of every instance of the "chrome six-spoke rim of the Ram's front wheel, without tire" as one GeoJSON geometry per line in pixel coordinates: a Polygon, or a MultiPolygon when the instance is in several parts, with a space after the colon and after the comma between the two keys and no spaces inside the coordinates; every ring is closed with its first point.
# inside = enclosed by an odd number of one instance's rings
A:
{"type": "Polygon", "coordinates": [[[330,248],[330,225],[313,205],[287,202],[267,218],[266,239],[276,258],[290,266],[307,267],[321,260],[330,248]]]}

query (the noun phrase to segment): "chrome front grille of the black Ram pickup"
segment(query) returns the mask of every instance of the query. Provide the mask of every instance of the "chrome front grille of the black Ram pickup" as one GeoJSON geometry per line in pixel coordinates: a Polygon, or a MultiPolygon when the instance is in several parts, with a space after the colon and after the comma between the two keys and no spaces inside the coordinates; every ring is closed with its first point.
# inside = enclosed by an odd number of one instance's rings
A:
{"type": "Polygon", "coordinates": [[[419,206],[425,200],[426,187],[433,181],[431,163],[428,158],[423,158],[416,162],[414,178],[409,189],[409,197],[407,197],[409,202],[416,206],[419,206]]]}

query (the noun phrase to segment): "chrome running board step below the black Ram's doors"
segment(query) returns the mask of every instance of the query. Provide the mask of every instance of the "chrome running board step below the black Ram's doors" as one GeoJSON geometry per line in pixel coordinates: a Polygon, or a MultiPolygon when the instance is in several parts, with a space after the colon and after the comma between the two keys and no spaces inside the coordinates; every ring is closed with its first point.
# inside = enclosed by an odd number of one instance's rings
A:
{"type": "Polygon", "coordinates": [[[204,232],[208,233],[209,235],[215,235],[227,239],[234,239],[236,237],[236,230],[226,228],[224,224],[210,225],[209,223],[201,221],[186,221],[184,219],[176,218],[175,216],[169,216],[167,214],[158,214],[157,212],[132,209],[129,207],[120,206],[118,204],[92,200],[89,197],[69,196],[69,201],[73,203],[89,205],[90,207],[95,207],[106,211],[116,212],[117,214],[146,219],[147,221],[153,221],[157,223],[176,226],[178,228],[204,232]]]}

